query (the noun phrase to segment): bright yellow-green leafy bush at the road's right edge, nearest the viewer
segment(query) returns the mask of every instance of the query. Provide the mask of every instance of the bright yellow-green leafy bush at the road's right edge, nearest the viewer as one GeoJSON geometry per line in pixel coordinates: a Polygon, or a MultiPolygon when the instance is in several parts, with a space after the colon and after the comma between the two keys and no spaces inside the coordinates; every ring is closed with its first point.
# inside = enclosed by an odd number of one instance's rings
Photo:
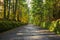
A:
{"type": "Polygon", "coordinates": [[[60,20],[52,21],[49,30],[56,34],[60,34],[60,20]]]}

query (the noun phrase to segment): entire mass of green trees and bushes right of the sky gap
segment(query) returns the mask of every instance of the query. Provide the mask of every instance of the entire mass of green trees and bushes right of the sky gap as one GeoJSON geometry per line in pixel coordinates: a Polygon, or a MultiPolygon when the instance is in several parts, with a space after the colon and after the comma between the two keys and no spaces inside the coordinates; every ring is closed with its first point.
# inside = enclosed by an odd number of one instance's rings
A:
{"type": "Polygon", "coordinates": [[[31,15],[33,24],[43,28],[60,33],[60,24],[57,21],[60,19],[60,0],[32,0],[31,15]]]}

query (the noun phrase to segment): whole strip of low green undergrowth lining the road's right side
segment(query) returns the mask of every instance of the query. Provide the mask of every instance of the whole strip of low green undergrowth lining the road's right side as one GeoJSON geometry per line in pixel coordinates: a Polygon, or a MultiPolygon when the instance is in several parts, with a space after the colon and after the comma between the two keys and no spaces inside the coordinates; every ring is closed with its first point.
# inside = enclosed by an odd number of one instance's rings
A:
{"type": "Polygon", "coordinates": [[[60,19],[52,22],[41,22],[40,26],[48,29],[49,31],[55,32],[56,34],[60,34],[60,19]]]}

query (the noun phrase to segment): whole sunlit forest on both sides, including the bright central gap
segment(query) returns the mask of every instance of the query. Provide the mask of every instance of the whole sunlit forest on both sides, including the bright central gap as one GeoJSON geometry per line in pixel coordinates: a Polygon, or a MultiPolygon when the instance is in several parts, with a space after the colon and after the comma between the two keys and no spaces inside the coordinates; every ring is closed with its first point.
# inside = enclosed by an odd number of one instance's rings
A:
{"type": "Polygon", "coordinates": [[[60,0],[0,0],[0,19],[60,32],[60,0]]]}

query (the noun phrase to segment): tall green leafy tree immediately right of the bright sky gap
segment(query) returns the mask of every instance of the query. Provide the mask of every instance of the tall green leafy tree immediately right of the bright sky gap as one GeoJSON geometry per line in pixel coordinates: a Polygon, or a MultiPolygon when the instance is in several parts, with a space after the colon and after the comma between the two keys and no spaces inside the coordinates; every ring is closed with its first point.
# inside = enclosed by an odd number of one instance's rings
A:
{"type": "Polygon", "coordinates": [[[33,19],[31,19],[33,21],[33,24],[37,24],[39,25],[40,24],[40,21],[41,20],[41,17],[42,17],[42,0],[32,0],[31,2],[31,6],[32,6],[32,9],[31,9],[31,15],[33,17],[33,19]]]}

